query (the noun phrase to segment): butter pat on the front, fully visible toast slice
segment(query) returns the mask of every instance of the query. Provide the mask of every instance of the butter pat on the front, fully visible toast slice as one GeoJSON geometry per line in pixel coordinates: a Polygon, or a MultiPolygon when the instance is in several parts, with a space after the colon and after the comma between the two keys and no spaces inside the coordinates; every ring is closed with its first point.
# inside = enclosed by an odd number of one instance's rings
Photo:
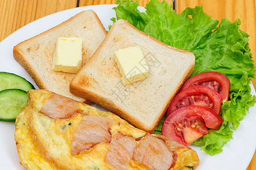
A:
{"type": "Polygon", "coordinates": [[[145,79],[149,74],[149,66],[139,46],[117,50],[114,59],[120,70],[124,85],[145,79]]]}

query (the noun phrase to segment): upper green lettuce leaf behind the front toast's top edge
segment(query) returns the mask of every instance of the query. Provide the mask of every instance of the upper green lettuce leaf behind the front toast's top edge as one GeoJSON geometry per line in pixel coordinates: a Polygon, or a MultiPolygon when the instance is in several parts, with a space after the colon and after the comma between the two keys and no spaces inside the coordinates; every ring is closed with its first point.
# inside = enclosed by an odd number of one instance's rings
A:
{"type": "MultiPolygon", "coordinates": [[[[186,8],[182,14],[171,10],[166,1],[149,1],[145,12],[137,10],[138,1],[117,1],[116,19],[125,19],[148,35],[180,49],[193,50],[205,40],[219,21],[203,13],[203,7],[186,8]]],[[[115,22],[115,19],[112,19],[115,22]]]]}

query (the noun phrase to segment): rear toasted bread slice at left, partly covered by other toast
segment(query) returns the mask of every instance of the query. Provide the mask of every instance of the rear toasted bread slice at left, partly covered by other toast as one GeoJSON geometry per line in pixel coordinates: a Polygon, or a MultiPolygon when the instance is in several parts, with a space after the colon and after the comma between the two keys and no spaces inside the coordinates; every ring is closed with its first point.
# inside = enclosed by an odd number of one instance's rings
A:
{"type": "Polygon", "coordinates": [[[14,46],[16,61],[26,69],[37,86],[57,94],[84,102],[85,99],[69,92],[75,74],[52,70],[52,59],[58,37],[82,37],[82,64],[93,56],[107,32],[93,10],[82,11],[57,25],[14,46]]]}

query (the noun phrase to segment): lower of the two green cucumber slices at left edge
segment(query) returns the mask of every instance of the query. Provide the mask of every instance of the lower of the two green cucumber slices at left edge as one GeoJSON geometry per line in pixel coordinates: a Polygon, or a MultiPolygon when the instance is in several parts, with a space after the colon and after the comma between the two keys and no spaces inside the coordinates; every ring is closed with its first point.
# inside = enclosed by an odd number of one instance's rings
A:
{"type": "Polygon", "coordinates": [[[16,116],[27,105],[27,92],[19,89],[0,91],[0,121],[15,121],[16,116]]]}

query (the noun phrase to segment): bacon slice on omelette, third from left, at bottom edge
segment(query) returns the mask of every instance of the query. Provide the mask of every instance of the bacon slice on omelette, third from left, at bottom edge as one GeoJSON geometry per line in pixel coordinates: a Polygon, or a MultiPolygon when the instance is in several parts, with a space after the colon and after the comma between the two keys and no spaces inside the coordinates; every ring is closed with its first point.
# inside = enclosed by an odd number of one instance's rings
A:
{"type": "Polygon", "coordinates": [[[135,139],[129,135],[116,133],[110,143],[104,161],[115,169],[128,169],[132,160],[133,150],[137,146],[135,139]]]}

